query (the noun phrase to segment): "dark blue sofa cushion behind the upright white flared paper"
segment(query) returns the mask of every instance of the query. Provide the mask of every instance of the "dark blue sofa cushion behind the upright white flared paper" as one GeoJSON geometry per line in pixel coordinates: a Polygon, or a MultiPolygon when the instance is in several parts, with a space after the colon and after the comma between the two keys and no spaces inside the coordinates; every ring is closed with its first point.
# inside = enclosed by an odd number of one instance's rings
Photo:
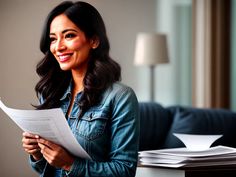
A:
{"type": "Polygon", "coordinates": [[[236,113],[223,109],[170,107],[175,114],[163,148],[184,147],[173,133],[223,134],[212,146],[236,147],[236,113]]]}

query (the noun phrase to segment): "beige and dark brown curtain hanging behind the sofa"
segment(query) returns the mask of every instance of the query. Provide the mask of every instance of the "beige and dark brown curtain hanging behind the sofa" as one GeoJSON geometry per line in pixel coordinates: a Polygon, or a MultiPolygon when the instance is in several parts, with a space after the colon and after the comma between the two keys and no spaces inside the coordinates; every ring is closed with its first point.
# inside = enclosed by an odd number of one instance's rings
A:
{"type": "Polygon", "coordinates": [[[230,107],[230,0],[193,0],[193,106],[230,107]]]}

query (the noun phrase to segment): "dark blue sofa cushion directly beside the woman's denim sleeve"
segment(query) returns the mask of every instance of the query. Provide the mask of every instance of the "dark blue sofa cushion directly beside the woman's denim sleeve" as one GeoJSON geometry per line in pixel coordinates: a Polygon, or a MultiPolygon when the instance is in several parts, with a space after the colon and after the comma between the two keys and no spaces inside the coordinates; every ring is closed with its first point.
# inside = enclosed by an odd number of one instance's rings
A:
{"type": "Polygon", "coordinates": [[[159,149],[172,122],[170,112],[158,103],[141,102],[139,150],[159,149]]]}

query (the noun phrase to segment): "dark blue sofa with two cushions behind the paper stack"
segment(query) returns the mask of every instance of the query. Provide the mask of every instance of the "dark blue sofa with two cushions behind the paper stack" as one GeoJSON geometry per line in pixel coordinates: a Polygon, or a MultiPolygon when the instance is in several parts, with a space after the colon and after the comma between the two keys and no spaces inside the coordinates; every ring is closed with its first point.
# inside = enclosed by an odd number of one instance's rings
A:
{"type": "Polygon", "coordinates": [[[173,133],[223,134],[212,146],[236,147],[236,112],[140,102],[139,150],[184,147],[173,133]]]}

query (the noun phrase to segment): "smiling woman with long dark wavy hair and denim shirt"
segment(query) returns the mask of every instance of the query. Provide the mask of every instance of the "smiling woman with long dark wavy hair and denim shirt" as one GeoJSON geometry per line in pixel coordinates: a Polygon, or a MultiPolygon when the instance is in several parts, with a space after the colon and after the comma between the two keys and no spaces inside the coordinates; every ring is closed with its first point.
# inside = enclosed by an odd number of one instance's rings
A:
{"type": "Polygon", "coordinates": [[[23,147],[40,176],[135,176],[139,114],[133,90],[119,82],[99,12],[85,2],[63,2],[48,15],[37,65],[37,109],[61,107],[91,159],[73,156],[38,135],[23,133],[23,147]]]}

